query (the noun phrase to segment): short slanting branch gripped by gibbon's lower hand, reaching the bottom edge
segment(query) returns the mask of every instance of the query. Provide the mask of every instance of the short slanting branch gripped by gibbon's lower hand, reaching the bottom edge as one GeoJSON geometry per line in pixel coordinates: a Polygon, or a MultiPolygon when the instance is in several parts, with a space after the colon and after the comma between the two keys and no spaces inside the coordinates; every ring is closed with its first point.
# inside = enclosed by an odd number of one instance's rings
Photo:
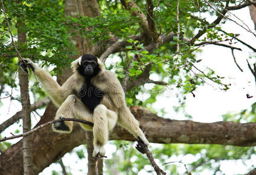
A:
{"type": "Polygon", "coordinates": [[[146,154],[147,157],[149,158],[150,164],[156,171],[156,174],[166,174],[155,162],[152,153],[150,152],[149,148],[147,148],[147,145],[144,144],[141,140],[138,140],[138,144],[136,145],[136,149],[141,152],[142,154],[146,154]]]}

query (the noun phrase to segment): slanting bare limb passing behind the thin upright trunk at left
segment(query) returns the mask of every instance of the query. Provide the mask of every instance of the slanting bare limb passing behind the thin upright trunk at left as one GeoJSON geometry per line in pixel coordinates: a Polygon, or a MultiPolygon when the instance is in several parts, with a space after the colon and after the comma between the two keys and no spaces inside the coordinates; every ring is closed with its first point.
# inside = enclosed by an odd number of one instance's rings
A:
{"type": "MultiPolygon", "coordinates": [[[[31,104],[30,106],[30,112],[36,109],[39,109],[43,106],[46,106],[48,103],[50,103],[50,98],[46,97],[42,100],[36,101],[34,104],[31,104]]],[[[11,126],[13,123],[21,119],[21,111],[15,113],[11,118],[7,119],[0,125],[0,133],[7,129],[7,127],[11,126]]]]}

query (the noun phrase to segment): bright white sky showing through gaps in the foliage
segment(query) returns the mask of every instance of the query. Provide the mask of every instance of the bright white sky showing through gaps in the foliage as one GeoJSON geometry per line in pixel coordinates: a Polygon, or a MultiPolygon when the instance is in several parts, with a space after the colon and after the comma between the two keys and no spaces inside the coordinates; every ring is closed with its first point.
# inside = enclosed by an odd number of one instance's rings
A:
{"type": "MultiPolygon", "coordinates": [[[[239,16],[240,19],[242,19],[242,21],[245,22],[245,24],[247,24],[252,31],[254,31],[254,24],[251,21],[251,17],[249,16],[248,8],[234,12],[236,16],[239,16]]],[[[252,34],[246,32],[241,27],[238,27],[236,24],[234,24],[234,22],[226,22],[224,30],[232,33],[240,33],[240,39],[247,43],[251,43],[251,45],[256,48],[255,37],[252,34]]],[[[191,94],[188,94],[185,109],[190,115],[193,116],[194,121],[221,121],[221,115],[228,112],[236,113],[240,112],[242,109],[248,109],[251,104],[256,101],[254,77],[249,71],[246,63],[246,59],[249,58],[252,51],[248,48],[245,48],[245,46],[240,45],[239,43],[237,43],[235,46],[243,49],[243,51],[235,50],[234,52],[237,62],[244,72],[240,72],[240,70],[237,68],[234,63],[234,59],[232,58],[231,50],[228,48],[209,45],[202,48],[203,52],[201,54],[197,54],[197,59],[202,59],[202,62],[197,64],[197,68],[204,69],[205,66],[208,66],[214,69],[218,75],[221,77],[226,77],[225,83],[231,83],[231,86],[229,86],[230,89],[228,91],[224,92],[220,91],[216,85],[213,85],[213,83],[209,81],[211,83],[210,85],[205,84],[205,86],[197,88],[196,92],[194,92],[196,95],[195,98],[193,98],[191,94]],[[254,97],[248,99],[246,98],[246,94],[253,95],[254,97]]],[[[251,63],[254,63],[254,60],[251,63]]],[[[168,98],[165,96],[158,97],[158,101],[153,106],[156,109],[165,108],[165,111],[167,111],[167,115],[165,115],[165,117],[172,119],[185,119],[182,113],[176,114],[173,110],[173,106],[179,105],[178,100],[174,96],[174,93],[170,91],[168,94],[170,96],[168,98]]],[[[13,101],[10,106],[10,112],[8,113],[10,99],[7,98],[2,101],[4,102],[4,106],[0,107],[0,123],[5,121],[7,118],[10,118],[10,116],[14,115],[14,113],[21,110],[20,104],[13,101]]],[[[39,113],[42,115],[43,111],[39,111],[39,113]]],[[[39,120],[40,118],[38,116],[32,116],[32,119],[34,123],[36,123],[36,120],[39,120]]],[[[15,124],[14,126],[11,126],[2,132],[1,135],[10,136],[10,132],[14,133],[14,130],[16,130],[18,127],[19,124],[15,124]]],[[[21,129],[21,127],[19,127],[19,129],[21,129]]],[[[111,145],[107,145],[107,147],[110,146],[111,145]]],[[[82,147],[80,146],[80,148],[82,147]]],[[[110,153],[107,154],[110,155],[110,153]]],[[[109,157],[109,155],[107,156],[109,157]]],[[[76,159],[77,156],[75,154],[66,154],[63,158],[63,162],[65,165],[72,167],[73,174],[85,174],[78,170],[81,167],[86,167],[85,165],[87,163],[82,161],[75,162],[74,160],[76,159]]],[[[193,161],[193,158],[191,158],[189,154],[185,157],[172,156],[170,158],[170,161],[181,160],[185,164],[189,164],[191,161],[193,161]]],[[[251,161],[246,161],[247,165],[243,164],[242,161],[222,161],[222,166],[220,168],[224,171],[225,174],[243,174],[248,173],[248,168],[254,165],[253,162],[256,162],[256,156],[252,156],[251,161]]],[[[40,173],[40,175],[50,174],[52,170],[61,171],[61,168],[59,165],[53,164],[50,166],[50,168],[46,168],[42,173],[40,173]]],[[[180,165],[178,170],[181,170],[180,172],[185,171],[183,165],[180,165]]]]}

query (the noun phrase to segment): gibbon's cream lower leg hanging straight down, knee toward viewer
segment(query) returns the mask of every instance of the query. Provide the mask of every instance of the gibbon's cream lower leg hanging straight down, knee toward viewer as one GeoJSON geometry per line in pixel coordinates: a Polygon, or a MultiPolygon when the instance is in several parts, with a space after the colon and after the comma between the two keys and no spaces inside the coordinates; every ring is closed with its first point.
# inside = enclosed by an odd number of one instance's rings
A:
{"type": "Polygon", "coordinates": [[[94,109],[94,151],[92,156],[98,153],[104,155],[106,153],[104,145],[109,137],[109,130],[113,129],[117,123],[117,113],[108,110],[103,104],[99,104],[94,109]]]}

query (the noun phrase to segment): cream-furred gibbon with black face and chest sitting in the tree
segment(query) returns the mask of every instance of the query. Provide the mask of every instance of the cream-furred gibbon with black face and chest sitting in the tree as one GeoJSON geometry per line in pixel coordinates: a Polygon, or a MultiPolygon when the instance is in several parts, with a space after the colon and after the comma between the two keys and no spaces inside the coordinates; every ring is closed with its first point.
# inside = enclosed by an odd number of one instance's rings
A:
{"type": "MultiPolygon", "coordinates": [[[[94,134],[93,156],[105,154],[109,130],[116,123],[127,129],[135,138],[149,145],[144,133],[139,129],[139,122],[126,106],[123,88],[115,74],[104,68],[103,62],[91,54],[85,54],[71,63],[73,74],[60,86],[51,75],[33,63],[24,59],[18,64],[28,72],[31,68],[43,89],[53,103],[59,107],[55,119],[79,118],[91,121],[94,127],[80,124],[83,129],[94,134]]],[[[71,133],[72,121],[53,124],[54,132],[71,133]]]]}

